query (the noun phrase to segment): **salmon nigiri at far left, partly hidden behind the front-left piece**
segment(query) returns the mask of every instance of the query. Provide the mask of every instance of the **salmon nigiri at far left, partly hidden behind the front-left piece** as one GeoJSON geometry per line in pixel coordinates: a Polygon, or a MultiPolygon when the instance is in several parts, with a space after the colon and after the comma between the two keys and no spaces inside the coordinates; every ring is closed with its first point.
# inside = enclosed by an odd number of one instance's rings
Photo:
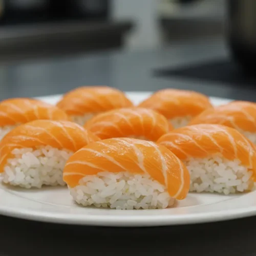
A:
{"type": "Polygon", "coordinates": [[[12,98],[0,102],[0,140],[19,124],[37,119],[69,120],[56,106],[29,98],[12,98]]]}

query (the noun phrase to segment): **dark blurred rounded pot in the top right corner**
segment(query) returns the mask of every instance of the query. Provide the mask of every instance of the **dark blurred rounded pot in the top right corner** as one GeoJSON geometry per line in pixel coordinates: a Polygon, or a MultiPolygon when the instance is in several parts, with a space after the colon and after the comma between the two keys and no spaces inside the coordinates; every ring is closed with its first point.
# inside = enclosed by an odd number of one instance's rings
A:
{"type": "Polygon", "coordinates": [[[244,70],[256,75],[256,0],[227,0],[227,11],[231,55],[244,70]]]}

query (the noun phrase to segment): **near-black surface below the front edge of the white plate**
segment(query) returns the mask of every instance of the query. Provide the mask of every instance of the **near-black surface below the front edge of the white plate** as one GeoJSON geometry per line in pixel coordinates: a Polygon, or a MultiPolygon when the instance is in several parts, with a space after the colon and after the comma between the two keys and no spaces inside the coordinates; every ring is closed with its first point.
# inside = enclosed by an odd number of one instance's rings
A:
{"type": "Polygon", "coordinates": [[[2,217],[5,231],[0,255],[254,255],[254,222],[255,218],[247,218],[172,227],[108,228],[2,217]]]}

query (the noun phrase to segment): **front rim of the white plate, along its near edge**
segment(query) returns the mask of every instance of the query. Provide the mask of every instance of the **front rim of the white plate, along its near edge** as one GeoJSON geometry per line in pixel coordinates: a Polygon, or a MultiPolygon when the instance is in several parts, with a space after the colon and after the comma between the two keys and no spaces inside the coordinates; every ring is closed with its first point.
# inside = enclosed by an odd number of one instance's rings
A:
{"type": "MultiPolygon", "coordinates": [[[[164,209],[163,209],[164,210],[164,209]]],[[[123,210],[115,210],[123,211],[123,210]]],[[[180,216],[111,216],[108,215],[82,215],[76,214],[76,218],[70,218],[69,214],[53,214],[52,212],[45,215],[44,211],[22,209],[14,211],[8,207],[0,206],[1,215],[24,220],[40,221],[45,223],[68,224],[68,225],[87,225],[87,226],[104,226],[104,227],[154,227],[154,226],[176,226],[188,224],[201,224],[209,222],[219,222],[234,219],[241,219],[256,215],[256,206],[241,208],[236,210],[210,211],[207,213],[188,214],[180,216]]]]}

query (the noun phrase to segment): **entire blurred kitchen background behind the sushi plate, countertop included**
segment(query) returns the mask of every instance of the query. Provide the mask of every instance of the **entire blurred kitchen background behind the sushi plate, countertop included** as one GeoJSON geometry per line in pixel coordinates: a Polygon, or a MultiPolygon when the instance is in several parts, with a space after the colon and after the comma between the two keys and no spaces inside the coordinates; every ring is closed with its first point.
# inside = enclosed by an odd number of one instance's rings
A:
{"type": "Polygon", "coordinates": [[[256,101],[255,11],[256,0],[0,0],[0,99],[106,84],[256,101]]]}

